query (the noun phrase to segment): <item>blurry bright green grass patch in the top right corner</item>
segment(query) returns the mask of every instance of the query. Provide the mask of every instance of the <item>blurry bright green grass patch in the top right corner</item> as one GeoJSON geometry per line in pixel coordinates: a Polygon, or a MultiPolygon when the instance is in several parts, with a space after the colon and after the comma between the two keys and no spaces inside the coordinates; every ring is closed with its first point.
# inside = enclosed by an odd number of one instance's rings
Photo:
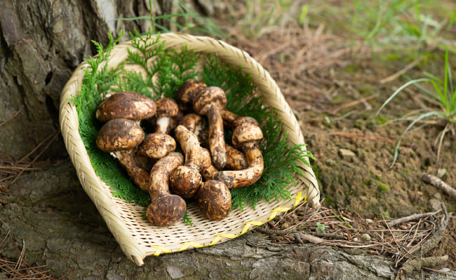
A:
{"type": "Polygon", "coordinates": [[[420,49],[422,46],[442,45],[441,33],[450,29],[455,18],[453,13],[448,15],[451,20],[436,19],[438,6],[429,5],[434,0],[351,2],[353,6],[347,13],[352,15],[352,31],[369,45],[380,47],[400,44],[420,49]]]}

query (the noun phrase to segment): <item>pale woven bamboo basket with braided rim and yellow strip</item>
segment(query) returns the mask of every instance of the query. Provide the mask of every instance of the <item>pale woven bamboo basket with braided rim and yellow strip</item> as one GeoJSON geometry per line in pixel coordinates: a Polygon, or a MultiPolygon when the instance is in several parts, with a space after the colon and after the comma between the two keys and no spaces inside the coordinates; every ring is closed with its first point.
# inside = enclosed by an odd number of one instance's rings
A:
{"type": "MultiPolygon", "coordinates": [[[[279,87],[269,73],[246,52],[223,41],[203,36],[166,33],[161,34],[161,39],[166,41],[166,49],[182,50],[182,47],[187,45],[189,50],[199,52],[201,55],[218,55],[220,62],[231,64],[235,68],[241,65],[243,72],[252,75],[253,83],[257,87],[257,93],[262,97],[264,106],[276,109],[277,118],[281,118],[290,143],[304,144],[304,137],[297,120],[279,87]]],[[[115,67],[124,62],[128,57],[127,50],[130,46],[130,41],[116,45],[112,50],[108,66],[115,67]]],[[[143,207],[113,197],[109,186],[95,174],[79,136],[76,108],[69,102],[69,98],[81,90],[83,70],[87,67],[86,62],[79,65],[62,90],[60,99],[62,137],[83,189],[104,218],[122,251],[137,265],[143,265],[144,258],[148,255],[184,251],[234,239],[304,200],[307,200],[312,207],[319,207],[320,193],[314,172],[309,166],[300,162],[303,175],[296,174],[296,185],[289,188],[292,197],[290,200],[264,201],[257,204],[255,209],[246,207],[243,211],[235,209],[222,221],[210,221],[201,215],[196,204],[190,203],[187,204],[187,211],[192,217],[193,226],[180,221],[168,228],[159,228],[143,220],[143,207]]]]}

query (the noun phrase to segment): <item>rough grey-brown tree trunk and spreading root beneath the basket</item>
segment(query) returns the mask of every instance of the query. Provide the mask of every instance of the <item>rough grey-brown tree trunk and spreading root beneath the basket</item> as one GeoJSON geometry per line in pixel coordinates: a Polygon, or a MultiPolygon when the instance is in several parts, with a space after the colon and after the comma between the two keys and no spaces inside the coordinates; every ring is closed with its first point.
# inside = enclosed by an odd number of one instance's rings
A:
{"type": "MultiPolygon", "coordinates": [[[[223,3],[187,2],[207,15],[223,3]]],[[[156,13],[175,9],[170,1],[152,5],[156,13]]],[[[106,45],[109,29],[114,36],[121,29],[145,31],[145,20],[113,21],[138,15],[149,15],[149,1],[0,0],[0,162],[19,160],[58,131],[60,92],[83,58],[95,53],[90,40],[106,45]]],[[[29,264],[46,265],[59,279],[389,279],[394,273],[392,261],[381,256],[273,244],[256,232],[149,257],[137,267],[83,193],[61,139],[44,150],[43,160],[51,163],[46,169],[2,185],[0,255],[15,260],[24,248],[29,264]]]]}

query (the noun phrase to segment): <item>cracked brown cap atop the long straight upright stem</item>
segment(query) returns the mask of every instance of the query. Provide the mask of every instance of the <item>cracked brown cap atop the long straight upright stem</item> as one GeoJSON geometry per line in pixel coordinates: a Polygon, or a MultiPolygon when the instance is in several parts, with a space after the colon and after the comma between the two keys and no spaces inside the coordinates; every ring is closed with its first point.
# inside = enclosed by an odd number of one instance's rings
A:
{"type": "Polygon", "coordinates": [[[227,106],[227,97],[220,87],[206,87],[205,90],[199,92],[194,99],[193,109],[199,115],[206,115],[213,104],[217,104],[219,109],[227,106]]]}

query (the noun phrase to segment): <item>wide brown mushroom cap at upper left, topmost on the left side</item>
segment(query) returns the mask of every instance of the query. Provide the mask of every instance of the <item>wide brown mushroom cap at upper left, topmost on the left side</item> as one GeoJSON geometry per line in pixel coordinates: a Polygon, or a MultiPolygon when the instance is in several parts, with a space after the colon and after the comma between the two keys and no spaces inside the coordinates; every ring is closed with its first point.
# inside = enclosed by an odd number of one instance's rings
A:
{"type": "Polygon", "coordinates": [[[114,118],[144,120],[156,113],[155,102],[136,92],[117,92],[98,105],[95,117],[102,123],[114,118]]]}

